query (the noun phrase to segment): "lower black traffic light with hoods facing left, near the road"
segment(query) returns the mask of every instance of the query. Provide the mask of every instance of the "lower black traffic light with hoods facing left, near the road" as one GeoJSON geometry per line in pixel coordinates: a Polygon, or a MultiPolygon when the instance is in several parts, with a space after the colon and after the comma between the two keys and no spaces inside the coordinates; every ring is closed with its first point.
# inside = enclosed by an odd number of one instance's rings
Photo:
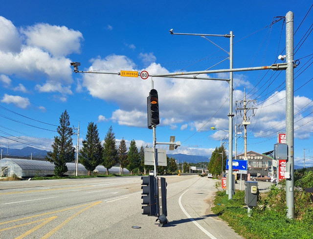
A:
{"type": "Polygon", "coordinates": [[[149,215],[149,216],[155,216],[156,215],[156,199],[155,199],[155,179],[154,176],[149,175],[149,176],[142,176],[141,177],[142,184],[141,186],[142,189],[142,195],[141,199],[142,206],[141,208],[143,209],[143,215],[149,215]]]}

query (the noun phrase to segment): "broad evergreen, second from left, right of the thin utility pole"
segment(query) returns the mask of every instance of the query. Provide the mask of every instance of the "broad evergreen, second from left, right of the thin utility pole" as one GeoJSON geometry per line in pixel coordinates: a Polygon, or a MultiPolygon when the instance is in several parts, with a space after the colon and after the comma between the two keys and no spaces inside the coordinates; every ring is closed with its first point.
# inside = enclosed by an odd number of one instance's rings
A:
{"type": "Polygon", "coordinates": [[[83,148],[79,150],[80,155],[78,156],[79,162],[88,170],[88,175],[101,163],[102,151],[97,124],[90,122],[86,140],[83,140],[83,148]]]}

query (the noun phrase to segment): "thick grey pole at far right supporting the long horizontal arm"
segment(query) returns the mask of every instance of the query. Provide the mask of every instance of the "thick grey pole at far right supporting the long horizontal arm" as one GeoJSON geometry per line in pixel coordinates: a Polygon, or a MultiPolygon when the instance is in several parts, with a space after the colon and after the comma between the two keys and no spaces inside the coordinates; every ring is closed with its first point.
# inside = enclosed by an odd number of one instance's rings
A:
{"type": "Polygon", "coordinates": [[[293,164],[293,13],[286,15],[286,205],[287,217],[294,218],[294,164],[293,164]]]}

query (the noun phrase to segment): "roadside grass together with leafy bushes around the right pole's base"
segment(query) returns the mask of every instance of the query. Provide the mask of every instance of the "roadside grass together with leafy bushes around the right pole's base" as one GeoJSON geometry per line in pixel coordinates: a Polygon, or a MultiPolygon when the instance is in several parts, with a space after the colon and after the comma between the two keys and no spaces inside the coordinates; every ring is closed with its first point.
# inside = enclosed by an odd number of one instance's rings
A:
{"type": "Polygon", "coordinates": [[[312,239],[313,203],[304,192],[313,184],[313,172],[304,172],[295,183],[294,218],[286,217],[284,182],[273,185],[269,192],[260,193],[258,206],[247,215],[245,192],[236,190],[233,200],[225,191],[218,191],[212,212],[229,223],[245,239],[312,239]]]}

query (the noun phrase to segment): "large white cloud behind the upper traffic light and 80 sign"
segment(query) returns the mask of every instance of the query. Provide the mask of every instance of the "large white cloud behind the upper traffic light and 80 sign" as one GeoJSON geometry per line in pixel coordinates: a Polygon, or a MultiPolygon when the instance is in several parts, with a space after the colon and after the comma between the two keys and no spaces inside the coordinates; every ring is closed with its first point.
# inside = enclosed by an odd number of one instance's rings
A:
{"type": "MultiPolygon", "coordinates": [[[[89,71],[106,69],[108,72],[118,72],[116,69],[135,69],[134,62],[121,55],[110,55],[104,59],[92,59],[89,71]]],[[[160,64],[151,63],[145,68],[150,74],[168,73],[160,64]]],[[[215,115],[216,120],[228,125],[228,84],[221,81],[192,81],[184,79],[155,78],[154,87],[159,95],[160,117],[163,125],[177,128],[177,123],[189,123],[199,129],[207,122],[220,106],[215,115]],[[215,89],[212,91],[211,89],[215,89]]],[[[112,119],[120,124],[146,126],[147,96],[151,89],[149,80],[106,74],[84,74],[83,86],[89,94],[106,101],[113,101],[119,106],[119,111],[112,114],[112,119]],[[130,114],[130,113],[136,114],[130,114]],[[140,112],[140,114],[138,114],[140,112]],[[138,117],[142,117],[139,119],[138,117]],[[142,122],[142,123],[141,123],[142,122]]],[[[212,119],[211,119],[212,120],[212,119]]],[[[211,121],[212,122],[212,121],[211,121]]],[[[208,124],[203,130],[209,130],[214,125],[208,124]]]]}

